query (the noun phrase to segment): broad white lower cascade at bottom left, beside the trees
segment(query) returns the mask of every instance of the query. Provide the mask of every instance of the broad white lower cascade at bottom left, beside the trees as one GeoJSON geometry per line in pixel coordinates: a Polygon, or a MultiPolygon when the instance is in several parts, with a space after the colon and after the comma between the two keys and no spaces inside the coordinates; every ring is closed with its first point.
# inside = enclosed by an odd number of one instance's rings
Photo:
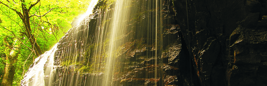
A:
{"type": "Polygon", "coordinates": [[[22,86],[45,86],[51,83],[56,50],[57,44],[34,60],[21,82],[22,86]],[[47,82],[45,83],[45,81],[47,82]]]}

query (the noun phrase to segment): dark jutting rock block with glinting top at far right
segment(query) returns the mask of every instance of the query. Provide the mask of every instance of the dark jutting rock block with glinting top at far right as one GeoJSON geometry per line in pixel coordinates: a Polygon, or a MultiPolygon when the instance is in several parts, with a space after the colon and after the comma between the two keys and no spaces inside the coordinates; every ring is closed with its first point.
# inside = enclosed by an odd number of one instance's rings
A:
{"type": "Polygon", "coordinates": [[[230,48],[234,51],[234,64],[230,77],[232,85],[266,85],[262,70],[266,68],[266,28],[238,27],[230,39],[235,43],[230,48]],[[233,38],[232,38],[233,37],[233,38]]]}

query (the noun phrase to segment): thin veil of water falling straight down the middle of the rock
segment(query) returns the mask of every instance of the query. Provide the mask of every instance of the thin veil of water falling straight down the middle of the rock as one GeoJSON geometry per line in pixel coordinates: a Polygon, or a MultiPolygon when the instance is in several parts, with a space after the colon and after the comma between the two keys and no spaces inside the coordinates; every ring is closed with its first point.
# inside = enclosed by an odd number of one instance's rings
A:
{"type": "MultiPolygon", "coordinates": [[[[93,58],[94,61],[91,62],[94,68],[92,72],[101,71],[103,74],[90,76],[90,86],[118,86],[121,85],[122,81],[127,80],[145,80],[157,85],[158,77],[160,77],[157,76],[157,56],[161,56],[160,50],[157,50],[157,47],[160,47],[157,44],[160,37],[159,39],[157,37],[161,36],[161,33],[157,34],[157,32],[161,32],[160,29],[157,29],[161,28],[160,18],[158,18],[160,17],[158,11],[161,9],[158,8],[158,3],[160,4],[161,1],[116,0],[113,6],[104,11],[104,15],[100,16],[103,19],[98,20],[98,22],[108,22],[97,26],[99,29],[96,31],[98,34],[95,38],[97,39],[96,51],[94,52],[96,54],[93,58]],[[123,77],[132,77],[127,76],[125,70],[130,64],[125,66],[125,62],[130,62],[131,58],[136,58],[136,53],[144,53],[142,54],[144,57],[141,57],[143,61],[146,58],[154,60],[149,61],[149,67],[153,68],[150,71],[153,73],[144,74],[145,77],[142,78],[122,79],[123,77]],[[105,62],[103,63],[101,60],[105,62]]],[[[139,56],[137,58],[140,59],[139,56]]]]}

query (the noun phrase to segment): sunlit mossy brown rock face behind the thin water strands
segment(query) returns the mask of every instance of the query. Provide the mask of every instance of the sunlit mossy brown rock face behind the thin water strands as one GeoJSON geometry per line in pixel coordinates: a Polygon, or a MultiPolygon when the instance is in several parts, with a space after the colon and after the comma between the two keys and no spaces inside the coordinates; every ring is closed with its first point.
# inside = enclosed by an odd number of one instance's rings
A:
{"type": "MultiPolygon", "coordinates": [[[[109,9],[97,8],[105,4],[107,4],[105,1],[98,2],[95,13],[88,16],[88,20],[84,19],[80,25],[74,22],[72,30],[61,38],[55,57],[57,68],[53,86],[102,86],[101,81],[105,80],[103,79],[105,77],[104,64],[107,62],[105,58],[108,56],[108,43],[111,40],[102,38],[103,40],[98,41],[96,33],[100,32],[97,28],[106,28],[103,29],[106,33],[102,34],[108,37],[109,26],[112,26],[111,21],[114,19],[112,13],[115,10],[115,3],[111,4],[109,9]],[[110,15],[105,15],[105,13],[110,15]],[[106,17],[108,20],[105,20],[106,17]],[[98,26],[97,24],[102,21],[105,23],[98,26]],[[94,60],[99,63],[93,62],[94,60]],[[74,82],[68,81],[65,77],[69,77],[74,82]]],[[[122,44],[118,43],[119,47],[115,47],[112,51],[114,60],[117,62],[113,66],[114,74],[111,85],[186,85],[190,79],[186,68],[189,60],[186,59],[187,63],[184,62],[185,50],[182,50],[181,36],[179,36],[181,32],[175,20],[172,4],[168,0],[162,1],[162,11],[158,12],[162,17],[158,16],[158,20],[155,20],[158,8],[147,4],[153,5],[155,1],[133,0],[128,7],[138,8],[138,10],[129,11],[133,14],[129,20],[126,19],[129,22],[125,27],[127,29],[123,35],[117,37],[118,42],[122,44]],[[158,25],[162,24],[158,26],[158,30],[155,30],[155,24],[151,24],[155,21],[158,25]],[[155,33],[158,35],[155,36],[155,33]]]]}

